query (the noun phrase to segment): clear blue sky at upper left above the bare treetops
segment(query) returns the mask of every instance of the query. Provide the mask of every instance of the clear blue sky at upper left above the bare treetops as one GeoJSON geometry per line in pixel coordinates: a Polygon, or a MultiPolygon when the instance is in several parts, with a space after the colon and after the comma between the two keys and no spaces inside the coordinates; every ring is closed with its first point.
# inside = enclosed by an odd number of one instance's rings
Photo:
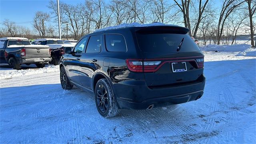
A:
{"type": "MultiPolygon", "coordinates": [[[[55,0],[56,1],[56,0],[55,0]]],[[[77,4],[85,0],[59,0],[68,4],[77,4]]],[[[17,25],[32,26],[37,11],[50,12],[49,0],[0,0],[0,23],[4,19],[16,22],[17,25]]]]}

